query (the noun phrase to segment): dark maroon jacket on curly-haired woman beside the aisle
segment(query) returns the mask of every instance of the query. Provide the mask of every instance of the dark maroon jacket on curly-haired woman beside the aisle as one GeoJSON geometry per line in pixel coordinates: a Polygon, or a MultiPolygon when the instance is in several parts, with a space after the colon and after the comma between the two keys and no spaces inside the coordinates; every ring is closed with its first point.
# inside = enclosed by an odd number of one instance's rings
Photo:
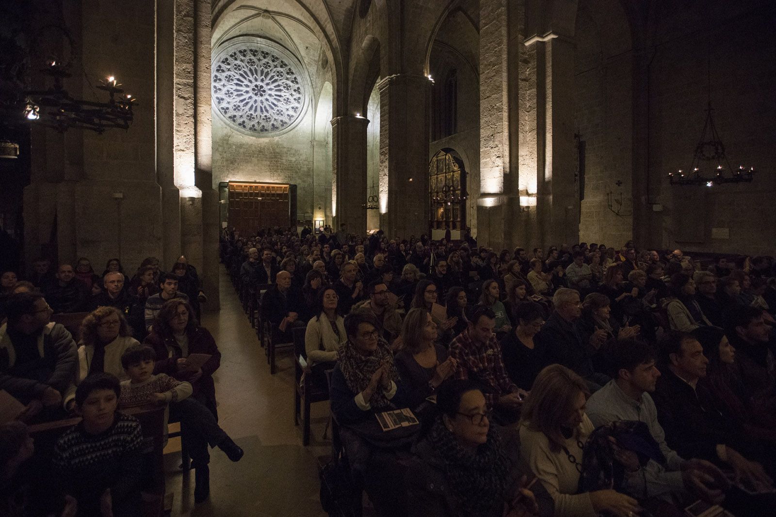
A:
{"type": "MultiPolygon", "coordinates": [[[[181,359],[182,350],[178,342],[172,336],[161,336],[157,332],[148,334],[143,342],[151,346],[156,352],[156,364],[154,374],[168,374],[178,381],[189,381],[191,372],[178,371],[178,359],[181,359]]],[[[203,395],[215,406],[216,385],[213,383],[213,372],[221,365],[221,353],[216,345],[216,340],[205,327],[195,327],[189,333],[189,353],[209,353],[211,356],[202,366],[202,377],[192,383],[194,395],[203,395]]]]}

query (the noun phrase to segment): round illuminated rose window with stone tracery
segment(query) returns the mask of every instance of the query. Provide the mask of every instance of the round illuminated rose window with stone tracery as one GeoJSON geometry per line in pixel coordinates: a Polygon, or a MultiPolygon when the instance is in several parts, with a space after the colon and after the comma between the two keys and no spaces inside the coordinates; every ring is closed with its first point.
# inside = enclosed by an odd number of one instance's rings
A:
{"type": "Polygon", "coordinates": [[[213,59],[213,105],[251,136],[285,133],[307,106],[303,67],[282,47],[255,37],[231,40],[213,59]]]}

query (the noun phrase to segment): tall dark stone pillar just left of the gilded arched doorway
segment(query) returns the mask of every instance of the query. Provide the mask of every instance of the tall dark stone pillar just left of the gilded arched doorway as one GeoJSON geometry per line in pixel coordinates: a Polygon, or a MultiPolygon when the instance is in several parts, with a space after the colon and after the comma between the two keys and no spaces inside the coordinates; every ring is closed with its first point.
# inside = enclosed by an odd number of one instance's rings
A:
{"type": "Polygon", "coordinates": [[[428,234],[428,87],[423,75],[390,75],[380,92],[380,191],[388,184],[380,228],[389,236],[428,234]]]}

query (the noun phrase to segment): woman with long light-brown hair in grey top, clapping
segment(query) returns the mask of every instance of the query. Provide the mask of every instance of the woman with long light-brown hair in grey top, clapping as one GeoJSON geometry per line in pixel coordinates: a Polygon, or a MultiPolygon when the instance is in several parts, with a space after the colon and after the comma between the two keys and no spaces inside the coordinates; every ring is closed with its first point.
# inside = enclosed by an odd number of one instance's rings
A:
{"type": "Polygon", "coordinates": [[[403,348],[396,354],[395,361],[413,410],[434,395],[439,384],[456,371],[456,360],[449,357],[436,339],[437,326],[430,312],[424,308],[407,312],[401,330],[403,348]]]}

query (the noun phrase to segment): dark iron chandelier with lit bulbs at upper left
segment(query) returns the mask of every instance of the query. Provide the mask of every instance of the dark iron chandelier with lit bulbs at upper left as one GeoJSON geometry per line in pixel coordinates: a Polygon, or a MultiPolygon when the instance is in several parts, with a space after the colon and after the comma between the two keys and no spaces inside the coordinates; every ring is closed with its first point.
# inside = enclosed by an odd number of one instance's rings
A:
{"type": "MultiPolygon", "coordinates": [[[[67,41],[71,59],[67,62],[51,58],[41,70],[44,77],[51,78],[52,86],[44,90],[23,91],[23,115],[36,126],[54,128],[64,133],[70,128],[90,129],[102,133],[106,129],[129,129],[133,119],[133,106],[137,105],[133,95],[125,93],[116,78],[109,76],[99,81],[95,88],[108,92],[106,102],[74,98],[64,88],[64,79],[70,78],[69,72],[74,45],[68,29],[62,26],[46,26],[43,29],[58,29],[67,41]]],[[[89,82],[91,86],[91,82],[89,82]]]]}

